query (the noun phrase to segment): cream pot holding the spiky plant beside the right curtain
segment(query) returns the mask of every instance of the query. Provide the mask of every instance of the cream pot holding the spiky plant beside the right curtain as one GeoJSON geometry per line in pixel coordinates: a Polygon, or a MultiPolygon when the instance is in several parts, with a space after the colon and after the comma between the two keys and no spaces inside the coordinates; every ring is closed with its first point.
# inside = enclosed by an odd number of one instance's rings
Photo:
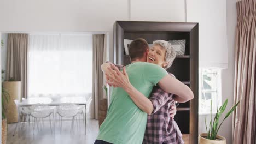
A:
{"type": "Polygon", "coordinates": [[[226,139],[223,136],[217,135],[216,138],[218,140],[209,140],[205,137],[207,136],[206,133],[202,133],[198,137],[198,143],[199,144],[226,144],[226,139]]]}

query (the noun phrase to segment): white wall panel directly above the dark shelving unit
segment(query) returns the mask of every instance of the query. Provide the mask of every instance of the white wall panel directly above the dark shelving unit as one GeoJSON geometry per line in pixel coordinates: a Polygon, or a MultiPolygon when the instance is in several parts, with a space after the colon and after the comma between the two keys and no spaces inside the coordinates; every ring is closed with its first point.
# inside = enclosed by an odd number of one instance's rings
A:
{"type": "Polygon", "coordinates": [[[131,0],[131,20],[185,22],[184,0],[131,0]]]}

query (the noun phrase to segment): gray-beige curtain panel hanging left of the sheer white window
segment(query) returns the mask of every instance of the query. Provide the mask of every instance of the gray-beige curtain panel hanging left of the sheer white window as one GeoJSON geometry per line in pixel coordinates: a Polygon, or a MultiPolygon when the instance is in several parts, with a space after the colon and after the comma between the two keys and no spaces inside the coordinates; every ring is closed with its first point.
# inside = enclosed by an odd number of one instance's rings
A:
{"type": "Polygon", "coordinates": [[[28,34],[8,34],[6,80],[21,81],[21,97],[27,98],[28,34]]]}

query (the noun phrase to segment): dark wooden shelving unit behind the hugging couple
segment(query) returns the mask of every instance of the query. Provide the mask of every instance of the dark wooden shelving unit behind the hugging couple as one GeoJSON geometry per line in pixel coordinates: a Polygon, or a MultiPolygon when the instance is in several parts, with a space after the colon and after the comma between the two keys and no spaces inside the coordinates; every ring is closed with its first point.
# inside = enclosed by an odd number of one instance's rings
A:
{"type": "Polygon", "coordinates": [[[186,40],[185,55],[177,56],[167,69],[194,93],[194,99],[179,104],[175,121],[182,131],[186,143],[197,143],[198,139],[198,23],[117,21],[114,24],[114,61],[130,64],[124,55],[124,39],[143,38],[152,44],[154,40],[186,40]]]}

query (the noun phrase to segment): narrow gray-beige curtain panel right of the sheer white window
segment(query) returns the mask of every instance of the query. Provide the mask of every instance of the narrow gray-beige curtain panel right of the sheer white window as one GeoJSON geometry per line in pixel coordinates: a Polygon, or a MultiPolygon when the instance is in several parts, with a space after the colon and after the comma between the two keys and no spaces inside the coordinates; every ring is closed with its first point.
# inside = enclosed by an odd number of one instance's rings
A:
{"type": "Polygon", "coordinates": [[[103,97],[103,73],[101,71],[101,64],[104,62],[104,34],[93,35],[93,72],[92,72],[92,99],[94,105],[92,110],[94,116],[92,118],[98,119],[98,100],[103,97]]]}

